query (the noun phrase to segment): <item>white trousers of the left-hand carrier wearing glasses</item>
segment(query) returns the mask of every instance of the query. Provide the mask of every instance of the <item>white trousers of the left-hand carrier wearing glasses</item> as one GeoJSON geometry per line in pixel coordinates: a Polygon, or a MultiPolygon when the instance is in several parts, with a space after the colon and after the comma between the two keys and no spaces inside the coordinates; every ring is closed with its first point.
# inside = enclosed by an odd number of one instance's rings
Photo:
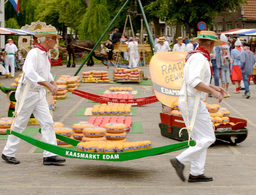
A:
{"type": "MultiPolygon", "coordinates": [[[[24,88],[24,86],[22,88],[24,88]]],[[[15,94],[16,100],[18,93],[19,89],[17,89],[15,94]]],[[[16,118],[13,130],[22,133],[22,131],[27,127],[28,120],[33,112],[33,115],[41,126],[43,141],[49,144],[57,145],[55,131],[53,128],[53,119],[52,115],[50,114],[45,95],[45,89],[41,89],[40,92],[28,91],[27,97],[20,110],[20,114],[16,118]]],[[[20,94],[20,98],[21,96],[22,93],[20,94]]],[[[15,110],[17,110],[17,106],[15,107],[15,110]]],[[[6,156],[15,157],[14,153],[18,149],[19,143],[20,138],[16,137],[15,135],[9,135],[3,150],[3,154],[6,156]]],[[[44,157],[55,155],[56,154],[44,150],[44,157]]]]}

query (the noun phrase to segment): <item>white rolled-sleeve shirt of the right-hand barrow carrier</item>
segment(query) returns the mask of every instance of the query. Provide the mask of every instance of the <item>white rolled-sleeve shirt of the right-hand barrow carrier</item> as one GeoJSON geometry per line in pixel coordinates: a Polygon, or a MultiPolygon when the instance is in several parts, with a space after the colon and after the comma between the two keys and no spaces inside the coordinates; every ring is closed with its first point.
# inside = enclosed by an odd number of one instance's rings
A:
{"type": "MultiPolygon", "coordinates": [[[[188,58],[184,66],[184,78],[186,79],[187,86],[187,96],[195,97],[196,89],[199,83],[202,83],[201,77],[204,74],[203,83],[206,86],[210,85],[211,79],[211,70],[210,64],[206,57],[203,54],[195,53],[188,58]],[[205,72],[203,72],[203,67],[205,66],[205,72]]],[[[184,78],[181,83],[180,95],[184,95],[184,78]]],[[[205,98],[206,93],[201,93],[201,99],[205,98]]]]}

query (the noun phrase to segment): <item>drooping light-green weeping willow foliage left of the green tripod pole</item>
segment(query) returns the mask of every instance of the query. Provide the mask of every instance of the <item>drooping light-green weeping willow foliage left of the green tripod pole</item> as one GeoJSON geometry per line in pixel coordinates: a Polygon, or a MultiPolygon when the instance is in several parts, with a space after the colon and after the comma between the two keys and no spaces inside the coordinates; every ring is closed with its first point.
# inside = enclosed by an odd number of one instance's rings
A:
{"type": "MultiPolygon", "coordinates": [[[[107,0],[91,0],[79,26],[79,40],[99,40],[110,23],[107,0]]],[[[105,40],[108,38],[106,35],[105,40]]]]}

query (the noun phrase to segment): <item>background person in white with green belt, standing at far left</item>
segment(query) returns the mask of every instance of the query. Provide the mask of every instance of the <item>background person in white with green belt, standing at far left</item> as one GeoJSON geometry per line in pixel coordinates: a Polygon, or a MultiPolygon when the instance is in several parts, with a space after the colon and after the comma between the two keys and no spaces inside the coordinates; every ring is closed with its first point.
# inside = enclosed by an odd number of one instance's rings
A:
{"type": "Polygon", "coordinates": [[[4,48],[4,67],[5,67],[5,78],[8,78],[9,74],[9,66],[11,66],[11,77],[14,78],[15,72],[15,56],[17,56],[18,48],[15,44],[13,44],[12,39],[8,39],[4,48]]]}

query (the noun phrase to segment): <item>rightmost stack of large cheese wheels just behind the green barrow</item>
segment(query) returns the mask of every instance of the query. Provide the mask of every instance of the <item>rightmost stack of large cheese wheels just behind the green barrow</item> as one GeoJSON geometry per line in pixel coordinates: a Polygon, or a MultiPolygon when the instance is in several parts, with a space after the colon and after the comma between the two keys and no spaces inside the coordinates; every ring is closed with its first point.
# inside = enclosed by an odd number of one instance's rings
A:
{"type": "Polygon", "coordinates": [[[107,133],[106,138],[107,141],[121,141],[126,142],[126,125],[122,123],[107,123],[104,125],[107,133]]]}

